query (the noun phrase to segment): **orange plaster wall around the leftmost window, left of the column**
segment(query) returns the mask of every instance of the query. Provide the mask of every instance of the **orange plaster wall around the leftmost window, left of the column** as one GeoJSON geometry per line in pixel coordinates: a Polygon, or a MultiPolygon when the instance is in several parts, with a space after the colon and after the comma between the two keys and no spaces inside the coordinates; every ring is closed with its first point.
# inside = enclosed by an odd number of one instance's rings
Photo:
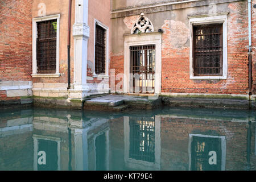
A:
{"type": "MultiPolygon", "coordinates": [[[[46,16],[60,14],[60,48],[59,48],[59,69],[61,76],[57,78],[33,78],[33,84],[38,87],[37,83],[63,84],[62,88],[67,89],[67,68],[68,68],[68,56],[67,56],[67,41],[68,41],[68,6],[69,1],[49,1],[49,0],[35,0],[32,3],[32,18],[39,17],[41,12],[40,3],[46,5],[46,16]]],[[[72,19],[71,25],[75,21],[75,1],[72,1],[72,19]]],[[[71,27],[71,82],[73,82],[73,36],[71,27]]],[[[47,87],[44,87],[47,88],[47,87]]]]}

